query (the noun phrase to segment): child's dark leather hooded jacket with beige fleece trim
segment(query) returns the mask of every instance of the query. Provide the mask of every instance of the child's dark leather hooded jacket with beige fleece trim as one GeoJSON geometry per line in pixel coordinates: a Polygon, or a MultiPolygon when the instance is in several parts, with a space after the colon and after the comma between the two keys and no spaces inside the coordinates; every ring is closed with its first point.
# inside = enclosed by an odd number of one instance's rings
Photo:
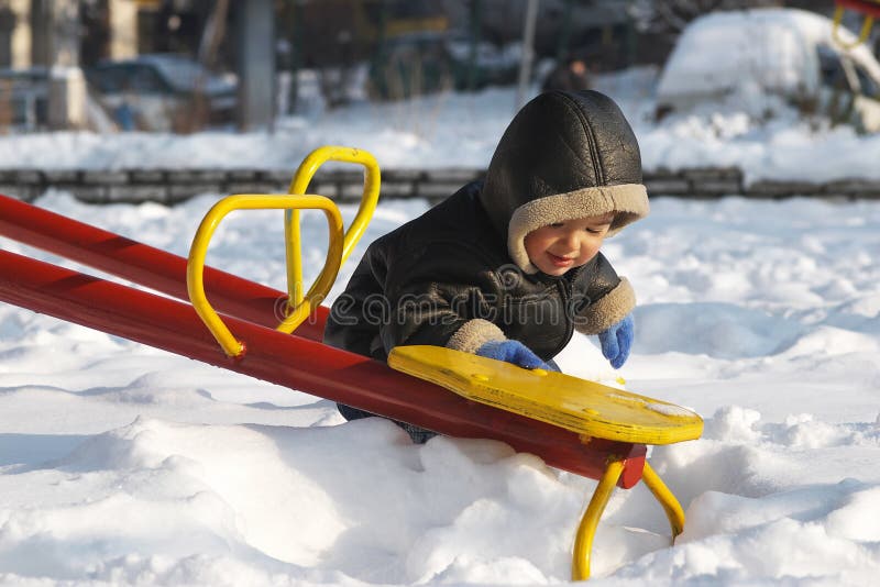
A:
{"type": "Polygon", "coordinates": [[[332,306],[324,342],[384,361],[403,344],[474,353],[514,339],[550,359],[574,330],[596,334],[623,319],[635,296],[601,253],[552,277],[530,263],[522,240],[609,211],[609,233],[648,212],[629,124],[598,92],[543,93],[514,118],[484,184],[370,245],[332,306]]]}

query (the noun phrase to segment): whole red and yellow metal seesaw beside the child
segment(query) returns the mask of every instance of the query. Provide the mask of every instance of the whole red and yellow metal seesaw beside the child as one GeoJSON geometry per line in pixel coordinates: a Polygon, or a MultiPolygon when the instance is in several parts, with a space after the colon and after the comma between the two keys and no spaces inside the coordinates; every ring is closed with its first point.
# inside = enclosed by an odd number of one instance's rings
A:
{"type": "Polygon", "coordinates": [[[644,480],[674,540],[684,513],[646,461],[646,445],[698,438],[703,422],[690,410],[448,348],[397,347],[386,365],[321,343],[328,309],[320,302],[363,234],[378,189],[372,155],[321,147],[300,165],[288,193],[220,200],[202,221],[188,259],[0,196],[0,235],[165,295],[0,251],[0,300],[443,434],[506,442],[597,479],[574,541],[574,579],[590,576],[593,538],[615,487],[644,480]],[[331,200],[305,195],[326,160],[366,169],[364,197],[345,232],[331,200]],[[228,213],[266,208],[285,210],[286,294],[205,266],[211,235],[228,213]],[[321,210],[330,225],[327,262],[305,294],[302,209],[321,210]]]}

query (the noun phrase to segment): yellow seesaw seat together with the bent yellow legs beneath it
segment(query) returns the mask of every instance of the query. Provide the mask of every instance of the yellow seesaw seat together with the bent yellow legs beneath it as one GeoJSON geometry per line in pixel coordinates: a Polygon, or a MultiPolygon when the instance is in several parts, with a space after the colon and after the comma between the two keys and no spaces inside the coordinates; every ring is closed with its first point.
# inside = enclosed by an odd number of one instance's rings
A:
{"type": "MultiPolygon", "coordinates": [[[[674,403],[451,348],[397,346],[388,356],[388,365],[470,400],[572,430],[584,442],[596,438],[632,444],[671,444],[698,439],[703,433],[703,419],[674,403]]],[[[572,553],[575,580],[590,577],[596,527],[623,472],[624,459],[609,455],[575,534],[572,553]]],[[[674,540],[684,528],[681,505],[647,461],[641,480],[662,506],[674,540]]]]}

